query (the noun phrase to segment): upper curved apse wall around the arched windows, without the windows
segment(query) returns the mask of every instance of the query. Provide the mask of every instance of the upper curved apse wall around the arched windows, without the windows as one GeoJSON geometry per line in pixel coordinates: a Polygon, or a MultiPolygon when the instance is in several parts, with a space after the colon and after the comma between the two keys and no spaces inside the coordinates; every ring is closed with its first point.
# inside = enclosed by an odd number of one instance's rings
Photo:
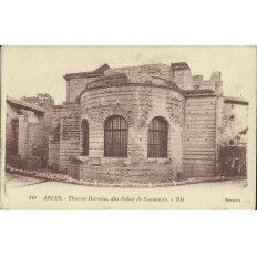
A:
{"type": "Polygon", "coordinates": [[[147,157],[148,123],[155,116],[168,123],[168,156],[182,154],[184,96],[178,92],[147,84],[106,86],[84,92],[81,110],[90,124],[90,156],[103,156],[104,121],[111,115],[128,123],[128,156],[147,157]]]}

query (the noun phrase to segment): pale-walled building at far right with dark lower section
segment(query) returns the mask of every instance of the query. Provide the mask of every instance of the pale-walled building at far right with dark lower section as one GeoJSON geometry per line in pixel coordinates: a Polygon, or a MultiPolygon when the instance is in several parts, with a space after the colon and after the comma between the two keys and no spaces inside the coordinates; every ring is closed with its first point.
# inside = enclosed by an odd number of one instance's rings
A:
{"type": "Polygon", "coordinates": [[[224,97],[217,126],[218,166],[222,175],[246,175],[248,141],[248,102],[243,97],[224,97]]]}

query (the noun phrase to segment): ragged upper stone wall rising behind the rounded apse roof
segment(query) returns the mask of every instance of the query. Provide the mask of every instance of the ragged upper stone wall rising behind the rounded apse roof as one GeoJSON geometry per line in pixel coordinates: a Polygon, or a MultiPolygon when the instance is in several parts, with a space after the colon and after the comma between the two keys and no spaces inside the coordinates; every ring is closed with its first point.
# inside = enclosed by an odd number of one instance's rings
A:
{"type": "Polygon", "coordinates": [[[66,80],[66,101],[74,102],[81,91],[86,88],[86,84],[97,79],[102,79],[113,74],[125,74],[131,83],[147,83],[154,82],[154,78],[163,78],[175,82],[182,90],[194,90],[198,86],[199,90],[213,90],[223,94],[222,73],[213,72],[209,80],[203,80],[203,75],[192,75],[191,68],[187,63],[166,64],[147,64],[140,66],[110,68],[104,72],[94,73],[74,73],[65,75],[66,80]]]}

